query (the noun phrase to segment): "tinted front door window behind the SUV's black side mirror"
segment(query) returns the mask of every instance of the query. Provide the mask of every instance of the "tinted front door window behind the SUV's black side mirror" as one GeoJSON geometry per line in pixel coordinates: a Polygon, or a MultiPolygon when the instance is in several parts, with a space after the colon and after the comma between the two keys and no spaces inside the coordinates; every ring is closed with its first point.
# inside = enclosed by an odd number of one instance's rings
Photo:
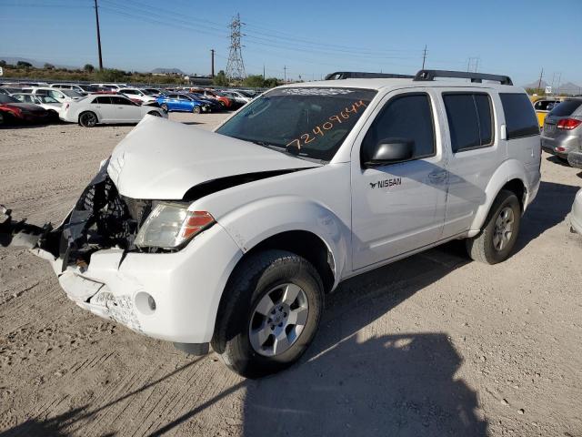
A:
{"type": "Polygon", "coordinates": [[[433,114],[426,94],[390,100],[367,131],[362,147],[374,147],[386,138],[412,139],[415,142],[414,158],[435,154],[433,114]]]}

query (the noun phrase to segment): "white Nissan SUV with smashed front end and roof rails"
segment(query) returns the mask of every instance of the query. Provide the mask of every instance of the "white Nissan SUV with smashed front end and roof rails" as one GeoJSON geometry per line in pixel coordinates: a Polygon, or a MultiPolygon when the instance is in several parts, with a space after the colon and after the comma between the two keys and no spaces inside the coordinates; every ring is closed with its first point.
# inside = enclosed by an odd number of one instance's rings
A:
{"type": "Polygon", "coordinates": [[[277,87],[215,132],[146,117],[33,250],[79,306],[248,377],[306,351],[343,279],[451,239],[507,259],[540,180],[525,91],[350,75],[277,87]]]}

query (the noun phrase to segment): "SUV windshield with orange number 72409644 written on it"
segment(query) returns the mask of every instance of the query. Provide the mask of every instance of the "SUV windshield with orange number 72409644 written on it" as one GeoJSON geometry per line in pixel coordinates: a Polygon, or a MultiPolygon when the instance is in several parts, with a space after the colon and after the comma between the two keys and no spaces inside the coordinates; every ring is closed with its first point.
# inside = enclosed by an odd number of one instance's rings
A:
{"type": "Polygon", "coordinates": [[[279,88],[247,104],[216,132],[329,161],[375,96],[370,89],[279,88]]]}

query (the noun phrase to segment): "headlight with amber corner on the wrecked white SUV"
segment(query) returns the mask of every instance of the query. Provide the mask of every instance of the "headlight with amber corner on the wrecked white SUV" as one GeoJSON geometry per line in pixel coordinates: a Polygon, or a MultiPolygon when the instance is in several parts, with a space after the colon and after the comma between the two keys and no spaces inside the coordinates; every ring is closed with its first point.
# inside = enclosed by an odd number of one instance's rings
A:
{"type": "Polygon", "coordinates": [[[215,219],[206,211],[188,211],[185,205],[159,203],[139,229],[135,246],[175,249],[214,223],[215,219]]]}

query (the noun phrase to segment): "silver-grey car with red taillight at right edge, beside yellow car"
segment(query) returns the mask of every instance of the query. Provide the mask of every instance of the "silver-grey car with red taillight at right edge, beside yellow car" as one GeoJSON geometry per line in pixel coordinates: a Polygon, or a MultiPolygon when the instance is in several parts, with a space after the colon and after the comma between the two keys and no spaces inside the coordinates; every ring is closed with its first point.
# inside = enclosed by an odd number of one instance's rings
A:
{"type": "Polygon", "coordinates": [[[582,98],[568,98],[547,114],[542,148],[557,158],[582,150],[582,98]]]}

